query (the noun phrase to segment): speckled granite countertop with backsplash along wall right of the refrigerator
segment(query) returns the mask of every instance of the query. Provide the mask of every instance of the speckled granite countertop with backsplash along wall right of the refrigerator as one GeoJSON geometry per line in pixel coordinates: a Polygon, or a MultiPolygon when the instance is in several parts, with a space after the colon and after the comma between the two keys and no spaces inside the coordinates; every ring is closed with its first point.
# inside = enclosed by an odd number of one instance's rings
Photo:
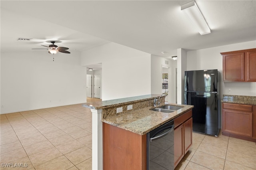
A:
{"type": "Polygon", "coordinates": [[[222,102],[256,105],[256,96],[223,95],[222,102]]]}

